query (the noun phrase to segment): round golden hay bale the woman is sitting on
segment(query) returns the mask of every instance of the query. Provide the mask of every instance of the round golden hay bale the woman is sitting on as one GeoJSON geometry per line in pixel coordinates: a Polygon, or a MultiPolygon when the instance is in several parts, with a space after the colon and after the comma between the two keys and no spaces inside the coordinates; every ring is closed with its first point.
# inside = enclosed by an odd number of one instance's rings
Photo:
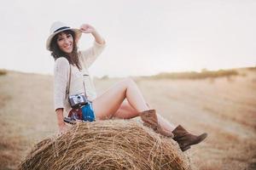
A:
{"type": "Polygon", "coordinates": [[[36,144],[20,169],[191,169],[172,139],[134,120],[78,123],[36,144]]]}

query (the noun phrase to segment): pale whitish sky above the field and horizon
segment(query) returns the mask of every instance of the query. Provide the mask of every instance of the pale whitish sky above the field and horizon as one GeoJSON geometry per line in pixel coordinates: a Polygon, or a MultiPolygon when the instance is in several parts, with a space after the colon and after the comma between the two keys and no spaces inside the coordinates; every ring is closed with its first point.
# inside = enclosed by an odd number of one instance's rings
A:
{"type": "MultiPolygon", "coordinates": [[[[0,68],[9,70],[53,73],[45,42],[56,20],[88,23],[105,38],[96,77],[256,65],[255,0],[9,0],[0,18],[0,68]]],[[[79,48],[92,42],[83,35],[79,48]]]]}

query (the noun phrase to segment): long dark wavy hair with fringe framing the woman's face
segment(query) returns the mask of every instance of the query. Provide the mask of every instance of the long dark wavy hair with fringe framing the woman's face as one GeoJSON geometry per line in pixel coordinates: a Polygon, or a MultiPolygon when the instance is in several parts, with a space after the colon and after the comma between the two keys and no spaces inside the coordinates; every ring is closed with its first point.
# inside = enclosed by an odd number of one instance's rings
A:
{"type": "Polygon", "coordinates": [[[79,63],[79,54],[78,54],[77,43],[75,42],[75,39],[76,39],[75,32],[72,30],[66,30],[66,31],[61,31],[60,33],[56,34],[55,37],[53,37],[50,42],[49,50],[51,52],[51,55],[53,56],[53,58],[55,60],[60,57],[65,57],[71,65],[76,65],[79,68],[79,70],[82,70],[82,67],[79,63]],[[57,44],[57,38],[58,38],[59,34],[62,32],[66,35],[71,34],[73,37],[73,51],[71,54],[64,53],[59,48],[59,46],[57,44]]]}

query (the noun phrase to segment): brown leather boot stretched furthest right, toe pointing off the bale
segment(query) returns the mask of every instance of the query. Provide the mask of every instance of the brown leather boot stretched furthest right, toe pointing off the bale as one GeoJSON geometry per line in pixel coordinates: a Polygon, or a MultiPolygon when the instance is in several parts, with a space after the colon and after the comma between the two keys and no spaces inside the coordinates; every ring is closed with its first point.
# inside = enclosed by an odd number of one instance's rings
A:
{"type": "Polygon", "coordinates": [[[202,133],[199,136],[189,133],[181,125],[178,125],[172,133],[174,134],[174,140],[177,141],[181,150],[189,150],[190,145],[198,144],[207,138],[207,133],[202,133]]]}

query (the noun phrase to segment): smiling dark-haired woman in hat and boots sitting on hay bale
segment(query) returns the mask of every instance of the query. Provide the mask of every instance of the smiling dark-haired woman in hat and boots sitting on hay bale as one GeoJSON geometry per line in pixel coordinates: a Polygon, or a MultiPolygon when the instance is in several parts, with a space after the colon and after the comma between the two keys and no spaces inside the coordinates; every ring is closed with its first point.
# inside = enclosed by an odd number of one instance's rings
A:
{"type": "Polygon", "coordinates": [[[67,125],[63,121],[63,112],[72,110],[68,103],[68,96],[85,91],[90,100],[89,110],[95,115],[96,120],[113,117],[129,119],[141,116],[145,125],[152,127],[157,133],[176,140],[183,151],[188,150],[190,145],[206,139],[207,133],[199,136],[191,134],[180,125],[174,127],[155,110],[150,110],[143,99],[143,94],[131,78],[116,83],[104,94],[96,97],[88,68],[102,53],[105,46],[105,40],[93,26],[88,24],[83,24],[80,29],[76,29],[57,21],[51,26],[46,48],[55,59],[54,100],[61,132],[67,130],[67,125]],[[77,47],[82,33],[91,34],[95,38],[93,46],[84,51],[80,51],[77,47]]]}

